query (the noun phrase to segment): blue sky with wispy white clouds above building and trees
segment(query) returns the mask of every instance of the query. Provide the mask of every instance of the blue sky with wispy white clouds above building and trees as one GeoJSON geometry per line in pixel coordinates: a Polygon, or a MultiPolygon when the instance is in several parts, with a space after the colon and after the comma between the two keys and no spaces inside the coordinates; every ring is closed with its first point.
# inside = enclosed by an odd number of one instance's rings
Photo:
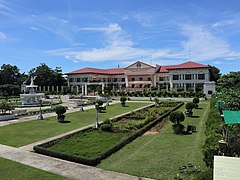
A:
{"type": "Polygon", "coordinates": [[[240,70],[239,0],[0,0],[0,64],[240,70]]]}

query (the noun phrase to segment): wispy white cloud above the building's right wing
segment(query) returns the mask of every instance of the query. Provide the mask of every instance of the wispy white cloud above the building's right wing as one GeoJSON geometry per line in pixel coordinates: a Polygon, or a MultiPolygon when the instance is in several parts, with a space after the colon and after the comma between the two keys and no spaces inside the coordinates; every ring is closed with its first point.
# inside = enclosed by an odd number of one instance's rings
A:
{"type": "Polygon", "coordinates": [[[189,48],[192,60],[204,61],[217,58],[235,58],[239,52],[231,50],[230,45],[221,37],[215,36],[205,26],[184,25],[183,34],[188,38],[182,43],[184,51],[189,48]]]}

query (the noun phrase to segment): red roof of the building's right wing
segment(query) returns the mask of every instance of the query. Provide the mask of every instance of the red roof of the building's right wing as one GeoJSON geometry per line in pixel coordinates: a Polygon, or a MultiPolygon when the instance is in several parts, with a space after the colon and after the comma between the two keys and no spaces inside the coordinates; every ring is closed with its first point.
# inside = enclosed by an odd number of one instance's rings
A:
{"type": "Polygon", "coordinates": [[[209,66],[199,64],[196,62],[188,61],[179,65],[173,65],[173,66],[161,66],[159,71],[160,73],[168,73],[168,70],[174,70],[174,69],[197,69],[197,68],[210,68],[209,66]]]}

